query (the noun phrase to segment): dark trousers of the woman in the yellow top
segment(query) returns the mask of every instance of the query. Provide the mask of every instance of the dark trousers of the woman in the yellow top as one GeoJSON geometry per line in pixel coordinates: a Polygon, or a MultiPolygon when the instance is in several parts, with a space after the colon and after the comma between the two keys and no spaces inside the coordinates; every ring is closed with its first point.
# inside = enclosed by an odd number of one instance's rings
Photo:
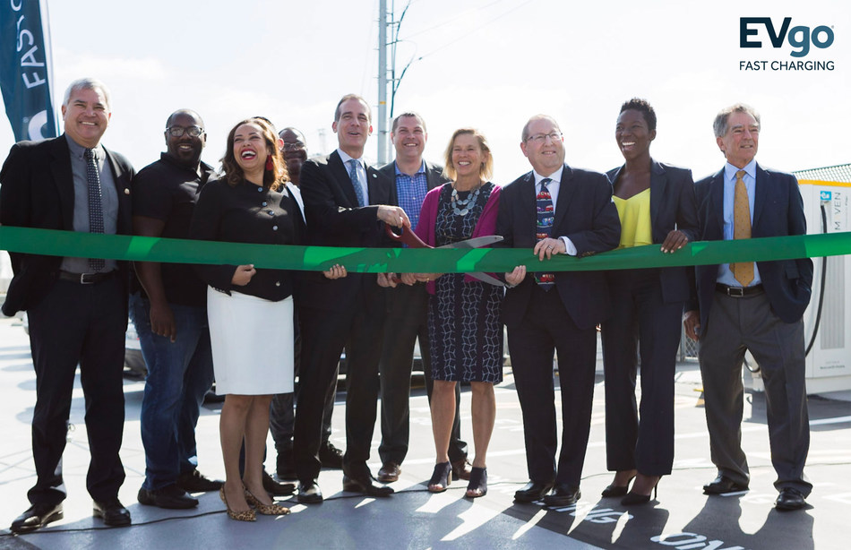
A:
{"type": "Polygon", "coordinates": [[[683,302],[662,299],[658,270],[610,271],[606,276],[613,307],[601,335],[606,467],[666,476],[674,465],[674,374],[683,302]],[[638,353],[639,408],[635,400],[638,353]]]}

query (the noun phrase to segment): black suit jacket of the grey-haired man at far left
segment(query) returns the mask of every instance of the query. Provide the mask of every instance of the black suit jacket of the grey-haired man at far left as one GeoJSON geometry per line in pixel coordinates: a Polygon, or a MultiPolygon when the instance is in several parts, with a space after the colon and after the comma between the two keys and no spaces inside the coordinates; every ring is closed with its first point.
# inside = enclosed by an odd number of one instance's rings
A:
{"type": "MultiPolygon", "coordinates": [[[[43,142],[12,146],[0,170],[0,224],[21,228],[73,231],[73,174],[71,152],[64,134],[43,142]]],[[[107,150],[118,195],[117,233],[131,235],[130,162],[107,150]]],[[[61,256],[12,253],[14,277],[6,293],[3,313],[13,315],[36,305],[56,282],[61,256]]],[[[127,282],[126,262],[118,262],[127,282]]]]}

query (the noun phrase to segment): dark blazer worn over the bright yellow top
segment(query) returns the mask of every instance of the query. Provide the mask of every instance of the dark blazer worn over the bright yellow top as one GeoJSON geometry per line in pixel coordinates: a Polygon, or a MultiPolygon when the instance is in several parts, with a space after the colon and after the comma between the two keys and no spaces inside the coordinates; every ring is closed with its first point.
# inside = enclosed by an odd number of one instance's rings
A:
{"type": "MultiPolygon", "coordinates": [[[[623,166],[606,172],[615,182],[623,166]]],[[[694,198],[692,171],[677,168],[651,160],[650,165],[650,223],[653,243],[661,245],[665,237],[675,228],[689,237],[689,242],[697,240],[697,202],[694,198]]],[[[670,267],[659,270],[659,283],[662,287],[662,299],[666,302],[684,302],[692,294],[692,278],[685,267],[670,267]]]]}

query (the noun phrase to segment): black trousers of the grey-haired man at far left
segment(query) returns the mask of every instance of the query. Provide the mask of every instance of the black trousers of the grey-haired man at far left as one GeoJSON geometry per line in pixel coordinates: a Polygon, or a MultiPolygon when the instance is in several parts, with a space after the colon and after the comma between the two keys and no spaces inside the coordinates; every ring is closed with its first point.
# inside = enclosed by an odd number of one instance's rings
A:
{"type": "Polygon", "coordinates": [[[91,452],[86,488],[95,500],[116,498],[125,480],[118,451],[125,422],[126,287],[118,275],[92,285],[57,280],[28,316],[36,371],[32,456],[38,476],[27,494],[30,503],[56,504],[65,498],[62,453],[78,363],[91,452]]]}

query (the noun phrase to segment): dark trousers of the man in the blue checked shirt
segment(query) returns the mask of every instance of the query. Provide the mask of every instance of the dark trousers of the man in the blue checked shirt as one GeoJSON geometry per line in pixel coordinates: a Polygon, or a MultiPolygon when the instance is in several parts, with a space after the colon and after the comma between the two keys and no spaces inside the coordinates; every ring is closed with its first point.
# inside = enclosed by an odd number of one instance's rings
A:
{"type": "MultiPolygon", "coordinates": [[[[400,284],[387,291],[387,319],[384,322],[384,344],[381,364],[382,443],[378,454],[383,463],[401,464],[408,455],[410,437],[410,377],[414,359],[414,343],[419,337],[423,357],[425,392],[432,399],[431,357],[428,352],[428,292],[425,285],[400,284]]],[[[467,458],[467,443],[461,441],[460,384],[455,384],[455,419],[449,442],[449,460],[467,458]]]]}

